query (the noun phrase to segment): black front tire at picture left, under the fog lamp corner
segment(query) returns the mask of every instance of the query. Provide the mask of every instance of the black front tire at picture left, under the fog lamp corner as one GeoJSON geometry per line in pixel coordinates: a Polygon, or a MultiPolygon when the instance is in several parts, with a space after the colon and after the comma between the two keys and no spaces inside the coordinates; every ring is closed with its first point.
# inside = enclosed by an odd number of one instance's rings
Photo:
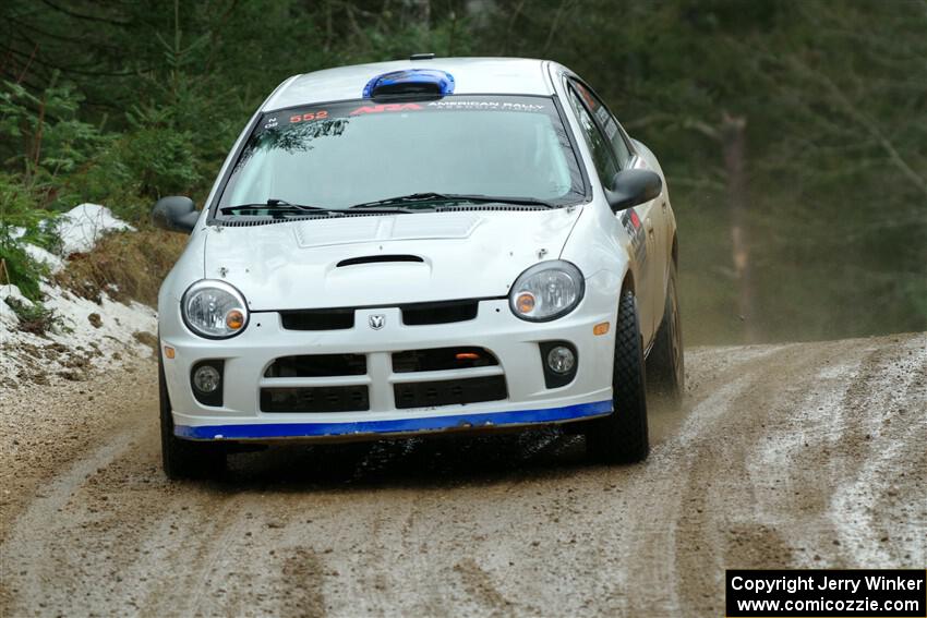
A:
{"type": "Polygon", "coordinates": [[[216,478],[225,472],[224,445],[183,440],[173,435],[173,416],[158,346],[158,399],[161,422],[161,466],[168,478],[216,478]]]}

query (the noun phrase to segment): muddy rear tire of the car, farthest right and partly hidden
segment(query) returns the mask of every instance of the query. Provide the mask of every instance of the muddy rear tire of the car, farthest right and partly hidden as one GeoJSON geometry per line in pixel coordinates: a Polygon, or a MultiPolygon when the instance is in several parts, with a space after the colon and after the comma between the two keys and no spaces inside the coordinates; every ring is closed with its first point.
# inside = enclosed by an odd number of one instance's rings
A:
{"type": "Polygon", "coordinates": [[[678,409],[683,404],[683,395],[686,392],[686,366],[675,264],[670,269],[670,280],[666,283],[663,320],[657,331],[650,358],[647,359],[647,377],[654,390],[672,408],[678,409]]]}

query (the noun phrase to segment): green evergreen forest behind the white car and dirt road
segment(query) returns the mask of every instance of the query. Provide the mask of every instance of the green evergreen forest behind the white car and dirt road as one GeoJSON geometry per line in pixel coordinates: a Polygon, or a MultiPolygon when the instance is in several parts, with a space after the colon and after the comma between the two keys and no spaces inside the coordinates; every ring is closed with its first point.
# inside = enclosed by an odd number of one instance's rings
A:
{"type": "Polygon", "coordinates": [[[282,80],[517,56],[585,76],[660,157],[687,344],[927,330],[924,33],[923,0],[5,0],[0,283],[40,302],[24,244],[55,251],[55,216],[93,202],[142,240],[79,276],[151,302],[183,244],[152,205],[202,205],[282,80]]]}

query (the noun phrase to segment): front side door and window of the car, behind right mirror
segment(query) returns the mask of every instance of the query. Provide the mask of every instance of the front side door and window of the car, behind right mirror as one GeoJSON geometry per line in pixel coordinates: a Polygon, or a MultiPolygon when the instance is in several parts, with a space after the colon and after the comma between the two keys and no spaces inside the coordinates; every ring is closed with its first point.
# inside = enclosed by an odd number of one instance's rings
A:
{"type": "MultiPolygon", "coordinates": [[[[646,169],[647,163],[634,154],[627,136],[601,99],[579,80],[570,78],[568,82],[570,102],[592,152],[593,163],[602,184],[607,186],[619,170],[631,167],[646,169]]],[[[663,314],[654,215],[654,202],[615,214],[631,238],[631,253],[637,264],[635,282],[640,329],[646,344],[649,344],[663,314]]]]}

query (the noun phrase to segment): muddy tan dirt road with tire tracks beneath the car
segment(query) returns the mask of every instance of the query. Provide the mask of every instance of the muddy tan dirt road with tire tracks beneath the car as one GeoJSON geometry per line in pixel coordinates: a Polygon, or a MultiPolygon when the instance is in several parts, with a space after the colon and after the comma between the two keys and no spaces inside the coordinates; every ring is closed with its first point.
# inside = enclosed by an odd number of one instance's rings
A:
{"type": "Polygon", "coordinates": [[[927,335],[706,348],[650,459],[580,438],[160,473],[155,365],[0,392],[0,615],[722,616],[724,568],[927,565],[927,335]]]}

